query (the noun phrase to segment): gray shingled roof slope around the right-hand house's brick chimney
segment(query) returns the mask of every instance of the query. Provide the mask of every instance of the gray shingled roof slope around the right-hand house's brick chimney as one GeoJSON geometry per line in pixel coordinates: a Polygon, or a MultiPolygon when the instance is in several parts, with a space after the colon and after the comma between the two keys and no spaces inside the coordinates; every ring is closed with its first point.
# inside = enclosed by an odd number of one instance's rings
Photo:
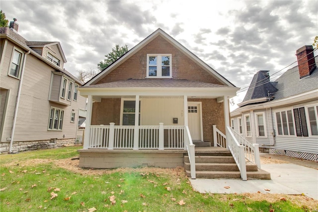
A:
{"type": "MultiPolygon", "coordinates": [[[[317,60],[316,60],[317,61],[317,60]]],[[[300,79],[298,66],[289,69],[276,81],[278,91],[274,100],[280,100],[294,95],[318,89],[318,68],[308,77],[300,79]]]]}

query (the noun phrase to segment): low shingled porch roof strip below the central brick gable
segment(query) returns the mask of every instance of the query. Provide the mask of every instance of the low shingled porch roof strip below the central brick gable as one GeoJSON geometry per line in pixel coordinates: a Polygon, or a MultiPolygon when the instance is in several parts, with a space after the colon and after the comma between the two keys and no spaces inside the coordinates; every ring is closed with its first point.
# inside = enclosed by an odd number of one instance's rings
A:
{"type": "Polygon", "coordinates": [[[111,83],[86,86],[85,88],[230,88],[230,86],[173,79],[128,79],[111,83]]]}

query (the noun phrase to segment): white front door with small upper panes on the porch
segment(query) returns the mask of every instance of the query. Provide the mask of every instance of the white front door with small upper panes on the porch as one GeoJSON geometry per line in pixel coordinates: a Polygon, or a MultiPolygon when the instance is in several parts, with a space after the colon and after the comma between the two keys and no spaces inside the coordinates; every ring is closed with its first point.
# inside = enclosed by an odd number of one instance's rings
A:
{"type": "Polygon", "coordinates": [[[188,102],[188,124],[192,140],[201,140],[200,104],[188,102]]]}

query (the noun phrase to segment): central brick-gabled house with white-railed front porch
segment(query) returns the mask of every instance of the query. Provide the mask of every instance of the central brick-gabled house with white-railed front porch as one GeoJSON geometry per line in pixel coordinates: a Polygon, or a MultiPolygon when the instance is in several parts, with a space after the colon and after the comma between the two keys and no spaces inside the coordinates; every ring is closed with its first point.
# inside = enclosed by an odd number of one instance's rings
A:
{"type": "Polygon", "coordinates": [[[189,134],[212,146],[212,125],[226,134],[238,90],[158,29],[79,88],[88,98],[79,166],[183,166],[189,134]]]}

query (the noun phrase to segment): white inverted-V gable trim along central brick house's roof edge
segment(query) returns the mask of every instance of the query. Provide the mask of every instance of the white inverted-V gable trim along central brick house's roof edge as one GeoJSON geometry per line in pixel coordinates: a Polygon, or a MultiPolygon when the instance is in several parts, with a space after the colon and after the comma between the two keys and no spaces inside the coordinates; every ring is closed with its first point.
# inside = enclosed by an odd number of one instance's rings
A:
{"type": "Polygon", "coordinates": [[[134,46],[131,50],[126,52],[124,55],[122,55],[120,58],[118,58],[115,62],[110,64],[106,69],[98,73],[95,77],[90,79],[88,82],[86,82],[83,86],[87,87],[90,85],[96,84],[99,80],[104,78],[108,73],[113,71],[115,68],[117,68],[120,64],[125,62],[128,58],[130,58],[132,55],[134,55],[136,52],[138,52],[141,48],[146,46],[148,43],[150,43],[152,40],[154,40],[156,37],[161,36],[163,37],[167,42],[169,42],[171,45],[176,47],[178,50],[180,50],[182,53],[187,55],[189,58],[191,58],[196,64],[198,64],[201,68],[209,72],[213,77],[215,77],[217,80],[222,82],[226,86],[235,87],[230,81],[228,81],[226,78],[224,78],[222,75],[220,75],[217,71],[215,71],[213,68],[211,68],[209,65],[207,65],[205,62],[203,62],[200,58],[198,58],[196,55],[194,55],[192,52],[190,52],[187,48],[185,48],[183,45],[181,45],[178,41],[176,41],[174,38],[172,38],[170,35],[165,33],[162,29],[158,28],[155,32],[150,34],[148,37],[146,37],[143,41],[138,43],[136,46],[134,46]]]}

